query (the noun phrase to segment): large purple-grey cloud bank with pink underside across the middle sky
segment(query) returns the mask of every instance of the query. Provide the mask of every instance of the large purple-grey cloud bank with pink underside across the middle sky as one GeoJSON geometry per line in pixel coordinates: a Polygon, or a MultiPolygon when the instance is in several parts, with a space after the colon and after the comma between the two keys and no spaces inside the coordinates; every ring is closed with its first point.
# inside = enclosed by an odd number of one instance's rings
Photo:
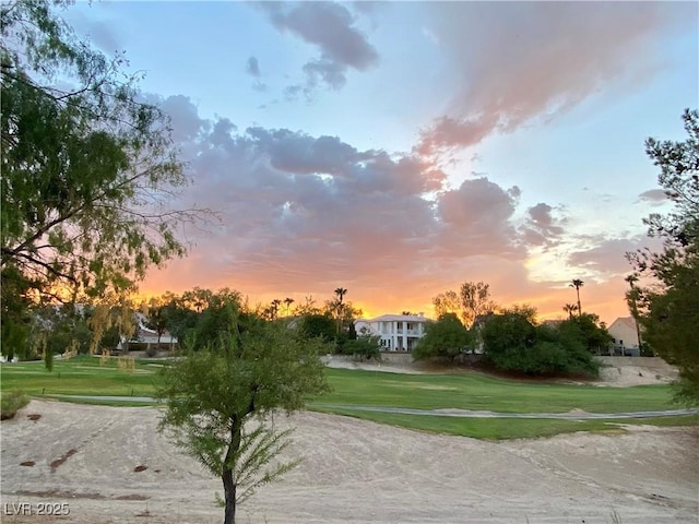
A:
{"type": "Polygon", "coordinates": [[[200,118],[181,96],[163,107],[194,182],[182,203],[220,212],[222,225],[192,233],[192,257],[159,272],[162,282],[301,296],[342,284],[429,297],[448,271],[462,282],[476,261],[526,257],[517,187],[481,177],[446,189],[445,174],[420,155],[288,129],[241,131],[200,118]]]}

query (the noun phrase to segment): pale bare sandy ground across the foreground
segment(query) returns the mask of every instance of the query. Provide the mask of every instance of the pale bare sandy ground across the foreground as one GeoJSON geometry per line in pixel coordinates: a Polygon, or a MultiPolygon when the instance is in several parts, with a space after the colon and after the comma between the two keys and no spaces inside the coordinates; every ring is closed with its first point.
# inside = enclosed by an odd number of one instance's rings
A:
{"type": "MultiPolygon", "coordinates": [[[[2,522],[221,522],[220,481],[157,419],[155,408],[33,401],[1,425],[3,510],[52,501],[70,514],[2,522]]],[[[239,523],[608,523],[614,511],[624,523],[697,522],[697,428],[495,443],[315,413],[275,422],[297,427],[289,455],[305,461],[246,502],[239,523]]]]}

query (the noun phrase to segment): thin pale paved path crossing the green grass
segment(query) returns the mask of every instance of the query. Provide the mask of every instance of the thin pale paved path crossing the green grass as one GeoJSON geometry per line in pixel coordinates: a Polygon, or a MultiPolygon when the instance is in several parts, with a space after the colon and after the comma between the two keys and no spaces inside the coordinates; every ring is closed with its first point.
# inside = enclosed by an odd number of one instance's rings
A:
{"type": "Polygon", "coordinates": [[[340,406],[334,404],[312,404],[311,407],[328,409],[347,409],[353,412],[395,413],[400,415],[427,415],[431,417],[457,418],[558,418],[565,420],[591,420],[600,418],[652,418],[676,417],[678,415],[697,415],[697,409],[665,409],[662,412],[626,412],[626,413],[588,413],[572,410],[568,413],[498,413],[471,409],[412,409],[410,407],[381,407],[381,406],[340,406]]]}

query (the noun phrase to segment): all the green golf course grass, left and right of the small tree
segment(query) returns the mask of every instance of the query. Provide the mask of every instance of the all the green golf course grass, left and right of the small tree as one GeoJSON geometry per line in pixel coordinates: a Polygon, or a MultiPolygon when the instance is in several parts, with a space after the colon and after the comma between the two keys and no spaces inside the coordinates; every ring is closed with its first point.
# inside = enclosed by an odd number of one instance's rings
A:
{"type": "MultiPolygon", "coordinates": [[[[104,405],[147,404],[130,397],[152,396],[162,360],[138,360],[135,369],[120,369],[117,358],[57,360],[48,372],[43,362],[0,366],[3,393],[21,390],[34,397],[105,395],[123,400],[73,400],[104,405]]],[[[552,420],[516,418],[454,418],[343,409],[342,406],[386,406],[414,409],[462,408],[500,413],[618,413],[676,409],[666,385],[601,388],[549,382],[520,382],[482,374],[398,374],[378,371],[327,369],[332,392],[312,400],[309,408],[364,418],[410,429],[481,439],[547,437],[570,431],[623,431],[619,424],[696,426],[698,416],[639,420],[552,420]],[[332,405],[334,407],[328,407],[332,405]]]]}

